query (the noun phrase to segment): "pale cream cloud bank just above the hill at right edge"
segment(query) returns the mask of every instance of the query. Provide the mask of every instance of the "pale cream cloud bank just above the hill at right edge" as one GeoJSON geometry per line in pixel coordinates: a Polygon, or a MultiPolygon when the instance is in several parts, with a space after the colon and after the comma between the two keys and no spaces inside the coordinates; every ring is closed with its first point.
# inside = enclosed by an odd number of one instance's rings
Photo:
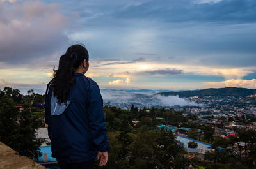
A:
{"type": "Polygon", "coordinates": [[[246,87],[250,89],[256,89],[256,79],[242,80],[242,79],[230,79],[223,82],[205,82],[207,85],[214,87],[246,87]]]}

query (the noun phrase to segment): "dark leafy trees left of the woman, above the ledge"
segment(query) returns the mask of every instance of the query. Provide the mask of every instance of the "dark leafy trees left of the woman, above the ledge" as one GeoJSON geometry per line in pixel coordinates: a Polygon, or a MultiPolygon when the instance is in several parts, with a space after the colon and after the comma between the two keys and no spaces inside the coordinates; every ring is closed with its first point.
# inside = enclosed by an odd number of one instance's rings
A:
{"type": "Polygon", "coordinates": [[[35,137],[35,129],[41,121],[32,115],[31,110],[31,100],[19,94],[18,89],[4,87],[4,91],[1,91],[0,141],[25,156],[31,156],[31,152],[37,154],[44,141],[35,137]],[[20,112],[15,107],[17,104],[22,105],[24,110],[20,112]]]}

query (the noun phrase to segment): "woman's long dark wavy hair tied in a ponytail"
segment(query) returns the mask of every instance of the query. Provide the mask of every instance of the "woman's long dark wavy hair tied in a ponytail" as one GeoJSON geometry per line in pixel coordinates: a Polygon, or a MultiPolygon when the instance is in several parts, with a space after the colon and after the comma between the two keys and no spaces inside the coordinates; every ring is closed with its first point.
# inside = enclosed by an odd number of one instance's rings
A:
{"type": "MultiPolygon", "coordinates": [[[[79,68],[81,63],[84,66],[84,59],[88,62],[89,54],[86,48],[83,45],[72,45],[68,47],[64,55],[61,55],[58,70],[53,68],[52,87],[58,103],[67,104],[67,94],[76,82],[73,77],[74,70],[79,68]]],[[[84,68],[86,67],[84,66],[84,68]]]]}

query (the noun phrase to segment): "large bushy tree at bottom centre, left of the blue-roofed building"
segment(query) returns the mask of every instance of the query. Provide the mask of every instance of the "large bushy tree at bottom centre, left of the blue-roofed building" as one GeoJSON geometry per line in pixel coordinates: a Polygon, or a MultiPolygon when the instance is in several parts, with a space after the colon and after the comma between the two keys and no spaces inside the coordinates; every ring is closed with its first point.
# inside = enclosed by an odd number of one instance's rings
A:
{"type": "Polygon", "coordinates": [[[186,168],[188,160],[182,143],[175,140],[172,132],[148,130],[141,126],[138,136],[131,144],[129,164],[131,168],[186,168]]]}

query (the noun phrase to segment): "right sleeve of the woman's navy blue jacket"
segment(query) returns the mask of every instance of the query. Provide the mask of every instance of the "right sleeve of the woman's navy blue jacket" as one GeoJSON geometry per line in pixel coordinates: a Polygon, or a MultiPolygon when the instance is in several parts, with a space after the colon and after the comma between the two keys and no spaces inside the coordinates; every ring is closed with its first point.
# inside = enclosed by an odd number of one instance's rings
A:
{"type": "Polygon", "coordinates": [[[97,151],[109,151],[109,141],[106,129],[106,119],[103,112],[103,99],[99,86],[91,81],[88,95],[88,117],[92,128],[92,140],[97,151]]]}

